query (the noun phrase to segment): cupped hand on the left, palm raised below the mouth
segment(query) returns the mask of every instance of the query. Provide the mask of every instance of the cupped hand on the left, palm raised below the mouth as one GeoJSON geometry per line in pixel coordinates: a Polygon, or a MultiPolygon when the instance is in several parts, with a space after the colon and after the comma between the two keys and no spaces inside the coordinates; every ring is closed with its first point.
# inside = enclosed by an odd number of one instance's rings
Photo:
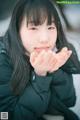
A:
{"type": "Polygon", "coordinates": [[[30,55],[30,63],[33,66],[35,72],[38,75],[45,76],[49,70],[49,64],[50,60],[52,59],[52,51],[44,51],[36,52],[34,51],[30,55]]]}

